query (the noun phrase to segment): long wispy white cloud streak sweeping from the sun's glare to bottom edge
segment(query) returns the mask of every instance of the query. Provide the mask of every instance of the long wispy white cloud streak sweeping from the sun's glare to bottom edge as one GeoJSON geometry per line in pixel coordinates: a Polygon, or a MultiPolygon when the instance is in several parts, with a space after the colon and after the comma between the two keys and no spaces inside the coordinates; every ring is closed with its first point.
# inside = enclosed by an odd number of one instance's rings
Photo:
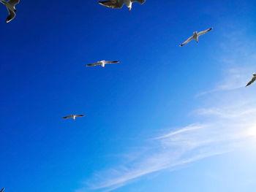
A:
{"type": "Polygon", "coordinates": [[[152,148],[146,154],[127,165],[95,174],[94,181],[88,183],[90,188],[112,191],[146,174],[173,170],[183,164],[230,152],[246,146],[248,142],[256,142],[256,110],[253,108],[256,106],[251,104],[197,110],[195,115],[213,120],[154,138],[154,143],[148,144],[152,148]]]}

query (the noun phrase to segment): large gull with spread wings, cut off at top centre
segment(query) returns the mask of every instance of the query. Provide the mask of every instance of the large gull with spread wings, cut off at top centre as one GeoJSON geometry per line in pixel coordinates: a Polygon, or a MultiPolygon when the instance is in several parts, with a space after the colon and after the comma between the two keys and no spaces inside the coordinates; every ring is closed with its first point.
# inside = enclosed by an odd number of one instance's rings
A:
{"type": "Polygon", "coordinates": [[[132,3],[134,1],[137,1],[140,4],[143,4],[145,3],[146,0],[108,0],[108,1],[98,1],[98,3],[105,7],[110,7],[113,9],[121,8],[124,6],[124,4],[126,4],[130,12],[132,10],[132,3]]]}

